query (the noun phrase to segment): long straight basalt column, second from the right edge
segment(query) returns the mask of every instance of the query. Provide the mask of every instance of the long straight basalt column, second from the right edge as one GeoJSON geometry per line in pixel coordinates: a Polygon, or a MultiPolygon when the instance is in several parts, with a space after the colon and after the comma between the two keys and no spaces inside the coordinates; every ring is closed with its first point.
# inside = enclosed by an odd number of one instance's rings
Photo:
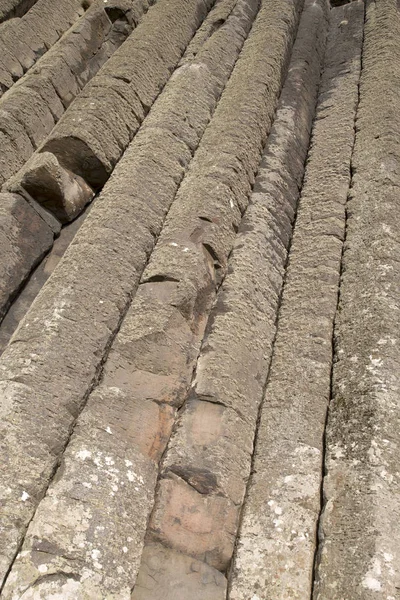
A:
{"type": "Polygon", "coordinates": [[[356,1],[330,13],[230,600],[248,600],[252,593],[257,600],[294,600],[310,598],[312,592],[363,10],[356,1]]]}

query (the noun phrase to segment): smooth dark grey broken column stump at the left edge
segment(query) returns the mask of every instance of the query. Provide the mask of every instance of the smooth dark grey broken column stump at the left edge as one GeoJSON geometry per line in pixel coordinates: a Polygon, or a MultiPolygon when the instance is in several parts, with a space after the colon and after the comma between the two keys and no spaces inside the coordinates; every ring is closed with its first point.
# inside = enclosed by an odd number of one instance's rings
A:
{"type": "Polygon", "coordinates": [[[0,194],[0,319],[52,243],[52,230],[21,196],[0,194]]]}

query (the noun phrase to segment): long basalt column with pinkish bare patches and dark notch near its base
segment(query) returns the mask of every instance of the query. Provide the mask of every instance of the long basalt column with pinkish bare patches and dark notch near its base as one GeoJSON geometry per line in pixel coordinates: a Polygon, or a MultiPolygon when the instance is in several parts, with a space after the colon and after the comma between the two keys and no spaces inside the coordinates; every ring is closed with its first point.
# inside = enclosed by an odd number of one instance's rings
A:
{"type": "MultiPolygon", "coordinates": [[[[300,21],[250,205],[210,315],[189,396],[163,457],[135,600],[161,598],[146,576],[155,540],[166,553],[166,548],[179,550],[187,560],[194,557],[222,572],[232,557],[274,337],[276,288],[282,284],[288,228],[308,149],[327,11],[326,3],[311,0],[300,21]]],[[[159,560],[157,575],[162,569],[159,560]]],[[[179,581],[185,589],[179,570],[175,582],[173,575],[169,570],[170,585],[179,581]]],[[[189,597],[190,577],[186,585],[189,597]]],[[[206,594],[201,590],[199,585],[198,595],[206,594]]]]}

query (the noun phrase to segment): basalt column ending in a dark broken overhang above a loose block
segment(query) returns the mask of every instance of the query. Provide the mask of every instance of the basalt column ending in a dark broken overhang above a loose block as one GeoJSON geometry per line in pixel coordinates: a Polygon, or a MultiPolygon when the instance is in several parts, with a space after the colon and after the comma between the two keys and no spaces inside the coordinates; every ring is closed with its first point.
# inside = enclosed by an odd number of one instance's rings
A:
{"type": "Polygon", "coordinates": [[[44,150],[89,185],[104,185],[212,4],[159,0],[104,66],[101,79],[79,95],[44,150]]]}

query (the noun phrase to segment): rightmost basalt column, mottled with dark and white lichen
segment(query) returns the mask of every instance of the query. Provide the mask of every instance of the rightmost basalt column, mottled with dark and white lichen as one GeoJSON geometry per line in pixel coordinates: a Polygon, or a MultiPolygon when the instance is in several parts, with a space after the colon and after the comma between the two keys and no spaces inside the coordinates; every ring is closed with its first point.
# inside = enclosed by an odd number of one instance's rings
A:
{"type": "Polygon", "coordinates": [[[400,14],[367,2],[315,600],[400,590],[400,14]]]}

